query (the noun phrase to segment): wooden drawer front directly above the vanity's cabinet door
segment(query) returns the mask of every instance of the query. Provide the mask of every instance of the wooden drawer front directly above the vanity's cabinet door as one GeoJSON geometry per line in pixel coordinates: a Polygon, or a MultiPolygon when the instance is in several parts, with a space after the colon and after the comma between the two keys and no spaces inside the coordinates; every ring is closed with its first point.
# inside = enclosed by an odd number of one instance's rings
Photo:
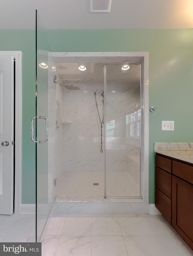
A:
{"type": "Polygon", "coordinates": [[[193,167],[173,161],[172,174],[193,184],[193,167]]]}

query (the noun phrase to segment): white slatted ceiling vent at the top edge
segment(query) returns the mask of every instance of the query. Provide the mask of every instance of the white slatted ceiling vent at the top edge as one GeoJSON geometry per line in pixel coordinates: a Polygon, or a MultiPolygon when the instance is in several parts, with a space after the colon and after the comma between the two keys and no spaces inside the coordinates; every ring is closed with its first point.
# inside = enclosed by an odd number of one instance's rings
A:
{"type": "Polygon", "coordinates": [[[90,12],[110,12],[111,0],[90,0],[90,12]]]}

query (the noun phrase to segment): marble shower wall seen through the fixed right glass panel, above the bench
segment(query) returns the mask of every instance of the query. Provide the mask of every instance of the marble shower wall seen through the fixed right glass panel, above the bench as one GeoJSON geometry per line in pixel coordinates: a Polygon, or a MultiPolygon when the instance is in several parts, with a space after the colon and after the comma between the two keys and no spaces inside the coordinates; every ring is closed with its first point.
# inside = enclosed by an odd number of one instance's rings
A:
{"type": "Polygon", "coordinates": [[[140,110],[140,83],[107,81],[106,100],[107,171],[127,171],[127,157],[133,155],[140,157],[140,137],[136,135],[137,126],[134,125],[133,130],[130,126],[131,121],[132,124],[139,121],[137,113],[140,110]],[[112,93],[112,90],[116,93],[112,93]],[[136,113],[136,119],[130,120],[134,113],[136,113]],[[109,124],[112,125],[112,129],[109,124]]]}

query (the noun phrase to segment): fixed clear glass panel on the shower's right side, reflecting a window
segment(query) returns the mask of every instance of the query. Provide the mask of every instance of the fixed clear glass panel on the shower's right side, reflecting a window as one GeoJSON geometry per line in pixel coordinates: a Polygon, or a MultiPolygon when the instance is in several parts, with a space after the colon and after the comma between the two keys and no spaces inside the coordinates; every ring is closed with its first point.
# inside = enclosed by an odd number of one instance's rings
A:
{"type": "Polygon", "coordinates": [[[123,65],[105,68],[107,198],[140,197],[141,71],[123,65]]]}

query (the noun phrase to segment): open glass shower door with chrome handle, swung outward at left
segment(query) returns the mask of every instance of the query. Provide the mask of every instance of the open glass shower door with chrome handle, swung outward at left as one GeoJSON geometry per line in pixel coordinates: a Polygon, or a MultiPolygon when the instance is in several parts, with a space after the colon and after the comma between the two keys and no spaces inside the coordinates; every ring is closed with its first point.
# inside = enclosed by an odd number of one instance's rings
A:
{"type": "MultiPolygon", "coordinates": [[[[36,239],[40,241],[55,200],[55,64],[36,11],[36,239]],[[49,131],[49,132],[48,132],[49,131]],[[48,157],[49,156],[49,157],[48,157]]],[[[33,137],[33,136],[32,136],[33,137]]]]}

